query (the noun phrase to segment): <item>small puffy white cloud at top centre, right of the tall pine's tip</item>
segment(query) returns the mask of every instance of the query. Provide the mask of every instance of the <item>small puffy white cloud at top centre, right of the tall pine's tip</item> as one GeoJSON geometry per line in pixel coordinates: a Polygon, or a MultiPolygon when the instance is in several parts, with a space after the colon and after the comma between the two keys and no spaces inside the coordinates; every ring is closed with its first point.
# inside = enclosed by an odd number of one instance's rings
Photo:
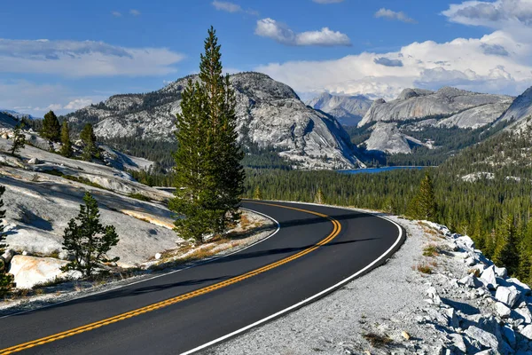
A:
{"type": "Polygon", "coordinates": [[[255,35],[268,37],[286,45],[351,45],[351,41],[347,35],[332,31],[329,28],[322,28],[319,31],[295,33],[285,24],[273,19],[258,20],[255,35]]]}

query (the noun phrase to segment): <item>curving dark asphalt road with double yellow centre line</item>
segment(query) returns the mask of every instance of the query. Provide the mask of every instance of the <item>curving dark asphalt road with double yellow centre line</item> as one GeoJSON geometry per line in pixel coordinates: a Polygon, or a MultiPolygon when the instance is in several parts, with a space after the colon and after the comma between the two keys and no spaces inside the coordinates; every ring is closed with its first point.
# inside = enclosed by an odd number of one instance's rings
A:
{"type": "Polygon", "coordinates": [[[348,209],[244,201],[278,222],[230,256],[0,319],[0,354],[192,353],[325,296],[382,264],[404,232],[348,209]]]}

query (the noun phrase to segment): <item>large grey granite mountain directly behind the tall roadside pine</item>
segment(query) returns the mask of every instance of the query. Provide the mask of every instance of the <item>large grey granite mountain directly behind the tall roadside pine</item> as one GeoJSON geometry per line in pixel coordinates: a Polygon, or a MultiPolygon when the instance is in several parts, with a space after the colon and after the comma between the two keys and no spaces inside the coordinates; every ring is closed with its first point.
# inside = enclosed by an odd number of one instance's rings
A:
{"type": "MultiPolygon", "coordinates": [[[[79,130],[90,122],[99,138],[174,139],[181,92],[190,75],[145,94],[115,95],[82,108],[66,119],[79,130]]],[[[239,140],[246,148],[274,151],[303,169],[352,169],[363,166],[348,133],[327,114],[306,106],[284,83],[268,75],[231,75],[237,99],[239,140]]]]}

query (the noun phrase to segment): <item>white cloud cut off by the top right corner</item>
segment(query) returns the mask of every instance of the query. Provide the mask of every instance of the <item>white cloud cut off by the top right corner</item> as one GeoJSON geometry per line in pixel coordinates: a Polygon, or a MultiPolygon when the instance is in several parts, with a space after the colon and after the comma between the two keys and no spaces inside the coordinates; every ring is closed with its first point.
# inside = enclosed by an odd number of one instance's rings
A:
{"type": "Polygon", "coordinates": [[[509,28],[532,28],[532,1],[497,0],[495,2],[465,1],[451,4],[442,12],[450,21],[464,25],[509,28]]]}

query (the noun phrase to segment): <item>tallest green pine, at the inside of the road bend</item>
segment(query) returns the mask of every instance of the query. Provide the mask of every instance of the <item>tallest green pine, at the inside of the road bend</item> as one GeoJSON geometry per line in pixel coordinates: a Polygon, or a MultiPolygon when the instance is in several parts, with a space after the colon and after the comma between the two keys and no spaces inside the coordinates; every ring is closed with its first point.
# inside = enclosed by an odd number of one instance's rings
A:
{"type": "Polygon", "coordinates": [[[223,77],[220,45],[208,30],[200,56],[200,80],[189,80],[177,114],[176,197],[168,207],[181,215],[176,232],[202,242],[239,219],[245,173],[237,142],[236,101],[229,76],[223,77]]]}

